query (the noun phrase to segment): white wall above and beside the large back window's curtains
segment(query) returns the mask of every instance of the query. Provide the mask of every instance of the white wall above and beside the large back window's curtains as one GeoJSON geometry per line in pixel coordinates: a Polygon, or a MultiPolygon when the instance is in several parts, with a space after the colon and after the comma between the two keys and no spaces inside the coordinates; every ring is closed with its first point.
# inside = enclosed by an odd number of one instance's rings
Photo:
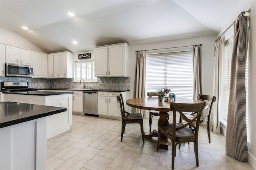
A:
{"type": "Polygon", "coordinates": [[[202,92],[204,94],[213,94],[213,69],[214,69],[214,41],[215,36],[197,37],[191,39],[180,39],[175,41],[165,41],[160,43],[150,43],[141,45],[130,45],[129,53],[129,76],[130,76],[130,94],[128,98],[133,97],[136,52],[137,50],[158,49],[168,47],[179,47],[186,45],[202,45],[202,92]]]}

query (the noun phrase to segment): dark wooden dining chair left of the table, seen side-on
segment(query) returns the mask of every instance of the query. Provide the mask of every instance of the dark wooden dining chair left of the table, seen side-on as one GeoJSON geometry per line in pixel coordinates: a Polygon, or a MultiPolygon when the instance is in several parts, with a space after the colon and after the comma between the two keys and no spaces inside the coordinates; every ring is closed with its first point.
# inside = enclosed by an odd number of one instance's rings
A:
{"type": "Polygon", "coordinates": [[[120,109],[122,115],[122,130],[121,130],[121,142],[123,141],[123,134],[125,131],[125,126],[128,123],[139,123],[140,124],[140,132],[142,135],[142,141],[144,143],[144,130],[143,130],[143,117],[142,113],[128,113],[124,110],[124,100],[122,94],[116,95],[118,107],[120,109]]]}

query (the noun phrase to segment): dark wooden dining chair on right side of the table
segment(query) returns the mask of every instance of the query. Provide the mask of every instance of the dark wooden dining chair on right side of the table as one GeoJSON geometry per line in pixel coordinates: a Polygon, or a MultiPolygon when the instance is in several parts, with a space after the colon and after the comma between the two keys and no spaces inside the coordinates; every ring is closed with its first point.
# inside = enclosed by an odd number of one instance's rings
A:
{"type": "MultiPolygon", "coordinates": [[[[216,100],[216,96],[208,96],[208,95],[204,95],[204,94],[198,94],[198,100],[202,100],[202,101],[208,103],[208,114],[205,117],[201,117],[200,125],[206,126],[207,133],[208,133],[208,141],[209,141],[209,143],[211,143],[210,119],[211,119],[211,113],[212,113],[212,105],[213,105],[213,102],[215,102],[215,100],[216,100]]],[[[195,117],[195,114],[196,113],[191,113],[191,114],[186,113],[186,116],[188,117],[188,119],[192,120],[195,117]]],[[[196,123],[196,122],[194,122],[194,123],[196,123]]]]}

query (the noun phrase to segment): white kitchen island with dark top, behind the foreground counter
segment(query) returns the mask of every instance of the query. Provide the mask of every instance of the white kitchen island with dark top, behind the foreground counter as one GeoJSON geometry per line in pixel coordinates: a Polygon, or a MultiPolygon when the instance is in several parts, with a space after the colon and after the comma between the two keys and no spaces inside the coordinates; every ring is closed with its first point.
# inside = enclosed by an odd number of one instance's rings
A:
{"type": "Polygon", "coordinates": [[[72,125],[73,92],[4,92],[4,102],[38,104],[44,106],[66,107],[67,110],[46,117],[46,139],[70,130],[72,125]]]}

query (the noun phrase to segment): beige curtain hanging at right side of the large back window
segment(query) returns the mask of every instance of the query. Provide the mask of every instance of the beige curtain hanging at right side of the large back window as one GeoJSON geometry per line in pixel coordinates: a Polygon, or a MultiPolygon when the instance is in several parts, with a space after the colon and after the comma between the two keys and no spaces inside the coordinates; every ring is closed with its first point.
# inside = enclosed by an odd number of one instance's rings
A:
{"type": "Polygon", "coordinates": [[[193,99],[196,99],[201,92],[201,46],[196,46],[193,49],[193,99]]]}

